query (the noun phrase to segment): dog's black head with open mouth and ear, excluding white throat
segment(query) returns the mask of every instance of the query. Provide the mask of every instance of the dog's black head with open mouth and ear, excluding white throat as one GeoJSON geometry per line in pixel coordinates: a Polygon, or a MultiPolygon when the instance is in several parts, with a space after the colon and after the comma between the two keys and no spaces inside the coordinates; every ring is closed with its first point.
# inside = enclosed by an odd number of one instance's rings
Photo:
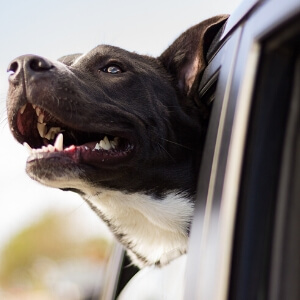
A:
{"type": "Polygon", "coordinates": [[[158,58],[101,45],[58,61],[12,61],[8,119],[14,137],[33,148],[29,176],[79,193],[193,193],[206,118],[195,87],[225,19],[189,29],[158,58]]]}

